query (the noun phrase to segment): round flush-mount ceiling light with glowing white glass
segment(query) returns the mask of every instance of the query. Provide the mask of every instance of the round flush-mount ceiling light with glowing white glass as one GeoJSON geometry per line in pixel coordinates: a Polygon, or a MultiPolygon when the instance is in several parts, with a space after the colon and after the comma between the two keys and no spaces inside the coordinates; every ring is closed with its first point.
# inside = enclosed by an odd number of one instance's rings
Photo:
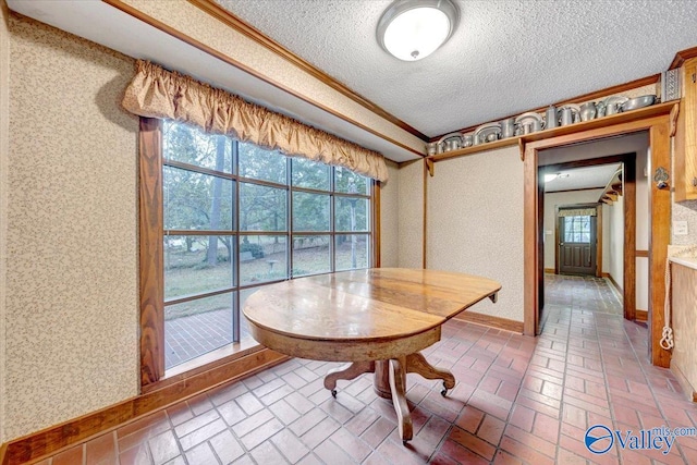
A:
{"type": "Polygon", "coordinates": [[[458,17],[452,0],[398,0],[378,22],[378,44],[400,60],[420,60],[450,38],[458,17]]]}

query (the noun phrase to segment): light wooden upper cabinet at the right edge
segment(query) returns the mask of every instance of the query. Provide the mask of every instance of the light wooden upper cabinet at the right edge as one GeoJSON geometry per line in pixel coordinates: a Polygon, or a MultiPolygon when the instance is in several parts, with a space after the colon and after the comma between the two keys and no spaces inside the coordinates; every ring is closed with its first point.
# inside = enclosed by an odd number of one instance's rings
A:
{"type": "Polygon", "coordinates": [[[697,58],[682,70],[683,98],[675,133],[675,168],[672,184],[675,200],[697,199],[697,58]]]}

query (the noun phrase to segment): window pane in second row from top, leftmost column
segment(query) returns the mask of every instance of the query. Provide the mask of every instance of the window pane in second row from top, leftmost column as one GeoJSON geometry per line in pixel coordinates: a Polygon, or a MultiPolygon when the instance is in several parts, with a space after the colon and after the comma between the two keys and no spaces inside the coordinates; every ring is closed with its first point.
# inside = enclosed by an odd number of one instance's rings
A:
{"type": "Polygon", "coordinates": [[[232,230],[233,181],[172,167],[163,174],[166,230],[232,230]]]}

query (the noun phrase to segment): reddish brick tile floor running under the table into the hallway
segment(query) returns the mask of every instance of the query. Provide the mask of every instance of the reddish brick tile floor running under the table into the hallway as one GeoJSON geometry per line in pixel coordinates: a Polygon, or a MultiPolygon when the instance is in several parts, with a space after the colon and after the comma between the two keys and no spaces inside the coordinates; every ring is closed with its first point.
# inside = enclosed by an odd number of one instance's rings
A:
{"type": "Polygon", "coordinates": [[[292,359],[158,412],[45,464],[690,464],[697,438],[669,454],[613,446],[595,455],[586,429],[695,427],[697,408],[670,370],[647,362],[645,325],[624,321],[604,280],[548,277],[537,339],[451,321],[425,351],[451,369],[440,382],[407,376],[414,440],[396,432],[390,401],[368,375],[322,377],[338,364],[292,359]]]}

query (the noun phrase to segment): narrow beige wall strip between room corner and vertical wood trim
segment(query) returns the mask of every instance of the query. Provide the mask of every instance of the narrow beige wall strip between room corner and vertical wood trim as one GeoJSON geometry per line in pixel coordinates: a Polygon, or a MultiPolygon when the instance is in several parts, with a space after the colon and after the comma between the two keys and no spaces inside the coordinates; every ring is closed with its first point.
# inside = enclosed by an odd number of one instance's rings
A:
{"type": "MultiPolygon", "coordinates": [[[[424,162],[400,167],[400,260],[402,268],[424,268],[424,162]]],[[[430,264],[428,268],[432,268],[430,264]]]]}

